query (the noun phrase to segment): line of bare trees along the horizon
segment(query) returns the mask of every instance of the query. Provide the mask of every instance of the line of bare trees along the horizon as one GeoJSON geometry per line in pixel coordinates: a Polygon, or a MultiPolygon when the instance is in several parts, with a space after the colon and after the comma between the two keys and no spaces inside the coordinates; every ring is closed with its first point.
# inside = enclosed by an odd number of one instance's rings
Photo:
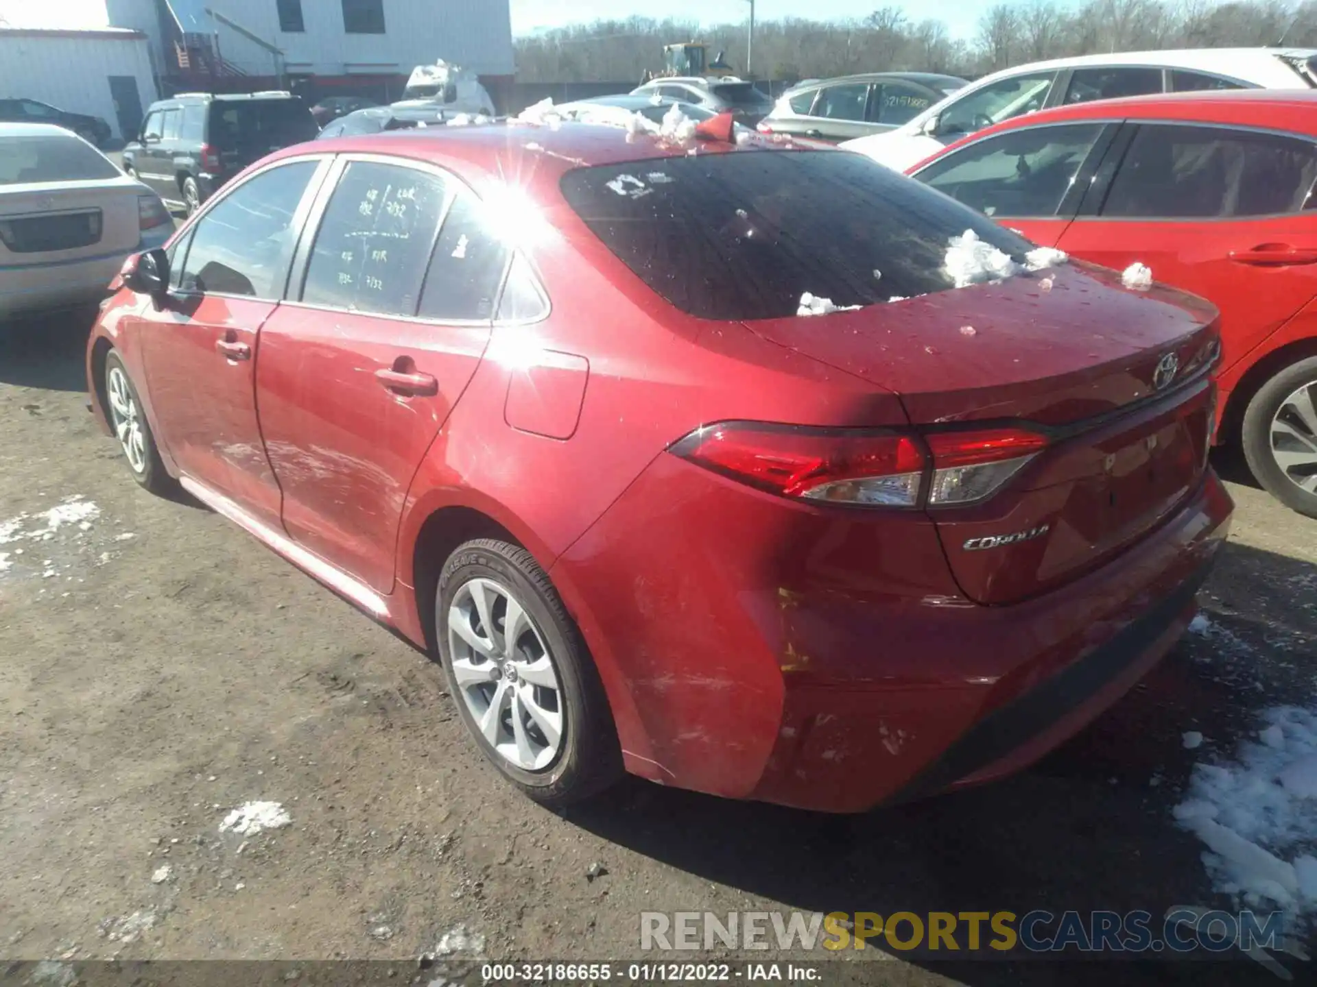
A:
{"type": "Polygon", "coordinates": [[[998,3],[973,38],[952,38],[935,18],[884,7],[863,20],[784,18],[755,25],[745,71],[747,24],[701,30],[681,20],[628,17],[572,25],[516,39],[522,82],[622,82],[662,66],[662,46],[709,43],[739,74],[797,82],[851,72],[928,71],[973,78],[1044,58],[1168,47],[1284,43],[1317,47],[1317,0],[1055,0],[998,3]]]}

